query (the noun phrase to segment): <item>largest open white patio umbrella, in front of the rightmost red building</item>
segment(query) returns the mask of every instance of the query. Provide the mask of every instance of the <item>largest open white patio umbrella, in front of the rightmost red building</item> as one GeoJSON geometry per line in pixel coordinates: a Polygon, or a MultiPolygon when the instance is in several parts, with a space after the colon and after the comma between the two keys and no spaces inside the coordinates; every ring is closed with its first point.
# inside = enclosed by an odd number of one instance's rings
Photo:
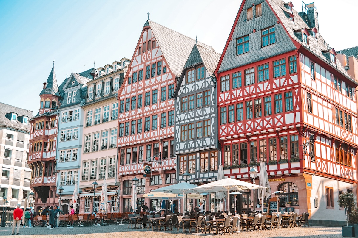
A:
{"type": "Polygon", "coordinates": [[[255,188],[266,188],[257,184],[244,182],[233,178],[224,178],[211,183],[207,183],[196,188],[190,189],[187,192],[192,193],[205,193],[205,192],[224,192],[229,190],[243,190],[243,189],[255,189],[255,188]]]}

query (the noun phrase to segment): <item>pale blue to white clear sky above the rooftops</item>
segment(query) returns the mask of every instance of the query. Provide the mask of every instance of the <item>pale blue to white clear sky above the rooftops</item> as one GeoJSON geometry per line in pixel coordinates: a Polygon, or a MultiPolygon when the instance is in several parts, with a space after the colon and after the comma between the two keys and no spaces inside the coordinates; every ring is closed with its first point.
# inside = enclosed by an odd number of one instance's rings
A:
{"type": "MultiPolygon", "coordinates": [[[[287,0],[289,1],[289,0],[287,0]]],[[[312,0],[305,2],[310,3],[312,0]]],[[[302,11],[301,1],[292,0],[302,11]]],[[[222,53],[240,0],[0,0],[0,102],[32,110],[52,69],[66,74],[131,59],[150,20],[222,53]]],[[[358,45],[357,0],[315,0],[319,31],[336,51],[358,45]]]]}

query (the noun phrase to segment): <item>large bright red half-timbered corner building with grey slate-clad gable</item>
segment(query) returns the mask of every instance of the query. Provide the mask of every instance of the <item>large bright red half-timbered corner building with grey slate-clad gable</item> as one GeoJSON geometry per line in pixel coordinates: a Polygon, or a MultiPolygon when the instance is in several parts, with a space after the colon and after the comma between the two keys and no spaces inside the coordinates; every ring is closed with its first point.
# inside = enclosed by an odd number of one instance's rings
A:
{"type": "MultiPolygon", "coordinates": [[[[280,207],[341,224],[338,195],[357,187],[358,84],[320,35],[314,4],[292,7],[242,1],[215,72],[222,162],[226,176],[247,181],[265,162],[271,191],[286,192],[280,207]]],[[[242,192],[231,209],[261,210],[242,192]]]]}

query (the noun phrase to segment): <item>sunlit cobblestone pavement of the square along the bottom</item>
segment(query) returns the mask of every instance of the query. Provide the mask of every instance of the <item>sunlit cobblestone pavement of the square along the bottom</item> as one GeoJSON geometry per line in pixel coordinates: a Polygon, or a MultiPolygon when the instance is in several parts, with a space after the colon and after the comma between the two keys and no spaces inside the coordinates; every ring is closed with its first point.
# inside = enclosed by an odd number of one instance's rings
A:
{"type": "MultiPolygon", "coordinates": [[[[16,229],[15,229],[16,232],[16,229]]],[[[110,225],[110,226],[100,226],[100,227],[59,227],[56,229],[49,230],[46,227],[34,227],[34,228],[25,228],[20,229],[20,235],[12,236],[11,227],[0,227],[0,236],[1,237],[26,237],[26,238],[211,238],[218,237],[222,235],[212,235],[212,234],[198,234],[196,233],[185,233],[173,229],[173,231],[149,231],[147,229],[132,229],[128,228],[128,225],[110,225]],[[55,235],[55,236],[54,236],[55,235]]],[[[225,237],[228,237],[226,234],[225,237]]],[[[231,234],[230,237],[238,238],[283,238],[283,237],[308,237],[308,238],[342,238],[342,228],[340,227],[297,227],[297,228],[284,228],[284,229],[274,229],[260,232],[241,232],[231,234]]]]}

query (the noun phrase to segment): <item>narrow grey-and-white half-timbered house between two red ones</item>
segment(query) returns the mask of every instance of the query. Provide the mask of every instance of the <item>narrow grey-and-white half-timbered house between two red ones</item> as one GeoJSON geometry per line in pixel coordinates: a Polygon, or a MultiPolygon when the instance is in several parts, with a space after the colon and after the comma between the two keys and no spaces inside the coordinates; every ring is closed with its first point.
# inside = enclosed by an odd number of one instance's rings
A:
{"type": "MultiPolygon", "coordinates": [[[[196,184],[217,178],[221,152],[217,140],[217,91],[213,72],[219,58],[220,54],[212,47],[196,43],[177,82],[174,145],[178,181],[184,180],[185,172],[190,173],[190,182],[196,184]]],[[[209,197],[205,206],[214,208],[215,204],[210,201],[215,201],[214,197],[209,197]]]]}

